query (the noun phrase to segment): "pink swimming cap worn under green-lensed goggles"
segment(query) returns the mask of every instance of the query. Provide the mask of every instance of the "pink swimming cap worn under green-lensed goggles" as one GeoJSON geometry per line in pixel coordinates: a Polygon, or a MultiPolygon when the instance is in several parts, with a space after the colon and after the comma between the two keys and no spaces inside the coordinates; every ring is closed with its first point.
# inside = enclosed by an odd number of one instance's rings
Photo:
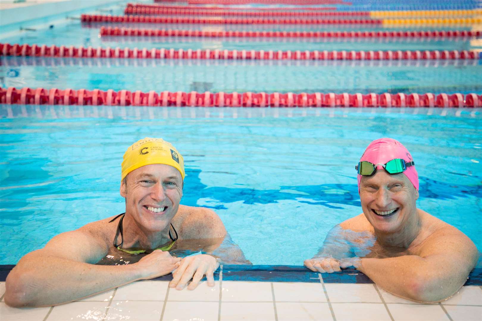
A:
{"type": "MultiPolygon", "coordinates": [[[[368,145],[360,161],[367,161],[373,164],[385,164],[395,158],[402,158],[407,162],[414,160],[400,141],[395,141],[392,138],[380,138],[372,141],[370,145],[368,145]]],[[[414,184],[415,189],[418,191],[418,174],[415,166],[407,167],[403,174],[414,184]]],[[[361,180],[362,175],[358,175],[358,192],[360,192],[361,180]]]]}

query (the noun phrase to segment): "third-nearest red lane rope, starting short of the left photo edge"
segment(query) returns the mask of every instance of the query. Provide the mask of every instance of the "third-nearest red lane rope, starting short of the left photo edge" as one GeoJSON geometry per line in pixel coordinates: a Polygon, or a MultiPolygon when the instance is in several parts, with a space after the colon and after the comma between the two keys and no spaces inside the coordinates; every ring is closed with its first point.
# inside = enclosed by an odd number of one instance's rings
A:
{"type": "Polygon", "coordinates": [[[100,36],[209,37],[209,38],[465,38],[480,37],[481,31],[204,31],[182,29],[137,29],[101,27],[100,36]]]}

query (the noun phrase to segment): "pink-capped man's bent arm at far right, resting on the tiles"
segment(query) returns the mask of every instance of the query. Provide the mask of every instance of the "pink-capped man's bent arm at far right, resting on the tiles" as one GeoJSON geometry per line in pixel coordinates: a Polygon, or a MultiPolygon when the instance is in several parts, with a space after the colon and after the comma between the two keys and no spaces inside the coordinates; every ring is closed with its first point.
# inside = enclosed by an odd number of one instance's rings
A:
{"type": "Polygon", "coordinates": [[[449,227],[430,236],[419,256],[361,258],[354,265],[390,293],[419,302],[438,302],[464,285],[477,258],[473,242],[449,227]]]}

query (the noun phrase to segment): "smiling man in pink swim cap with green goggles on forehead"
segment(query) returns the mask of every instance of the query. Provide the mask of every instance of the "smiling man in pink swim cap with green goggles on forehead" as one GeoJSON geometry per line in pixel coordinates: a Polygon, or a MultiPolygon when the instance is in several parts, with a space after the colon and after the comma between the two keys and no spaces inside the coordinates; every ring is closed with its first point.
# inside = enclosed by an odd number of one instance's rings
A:
{"type": "Polygon", "coordinates": [[[305,266],[321,273],[353,266],[388,292],[419,302],[454,295],[478,251],[464,233],[416,208],[412,155],[399,141],[381,138],[368,145],[356,170],[363,213],[329,231],[305,266]]]}

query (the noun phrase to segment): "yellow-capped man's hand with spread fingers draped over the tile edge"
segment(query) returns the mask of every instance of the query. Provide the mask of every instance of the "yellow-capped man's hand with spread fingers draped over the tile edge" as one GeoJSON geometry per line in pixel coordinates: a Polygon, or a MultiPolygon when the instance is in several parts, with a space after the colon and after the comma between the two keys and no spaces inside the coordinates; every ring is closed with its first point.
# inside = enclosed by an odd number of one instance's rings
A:
{"type": "Polygon", "coordinates": [[[206,275],[208,285],[214,286],[214,271],[218,267],[219,262],[208,254],[185,257],[181,260],[179,268],[173,272],[173,281],[169,283],[169,287],[182,290],[192,279],[187,289],[194,290],[204,275],[206,275]]]}

